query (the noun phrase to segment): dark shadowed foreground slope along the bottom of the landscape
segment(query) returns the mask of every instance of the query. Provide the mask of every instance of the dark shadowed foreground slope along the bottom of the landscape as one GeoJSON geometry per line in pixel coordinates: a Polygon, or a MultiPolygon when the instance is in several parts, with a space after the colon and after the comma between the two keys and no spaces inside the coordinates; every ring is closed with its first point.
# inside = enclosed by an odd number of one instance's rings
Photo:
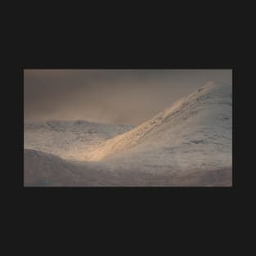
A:
{"type": "Polygon", "coordinates": [[[149,173],[110,172],[96,163],[71,163],[38,150],[24,150],[25,186],[231,186],[230,168],[149,173]]]}

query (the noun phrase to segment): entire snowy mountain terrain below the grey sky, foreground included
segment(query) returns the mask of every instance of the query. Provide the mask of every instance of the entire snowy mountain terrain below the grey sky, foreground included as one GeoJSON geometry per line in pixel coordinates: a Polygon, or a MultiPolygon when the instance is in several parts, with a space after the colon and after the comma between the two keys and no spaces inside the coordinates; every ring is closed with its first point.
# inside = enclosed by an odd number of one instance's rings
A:
{"type": "Polygon", "coordinates": [[[25,186],[231,186],[231,91],[208,83],[136,128],[25,124],[25,186]]]}

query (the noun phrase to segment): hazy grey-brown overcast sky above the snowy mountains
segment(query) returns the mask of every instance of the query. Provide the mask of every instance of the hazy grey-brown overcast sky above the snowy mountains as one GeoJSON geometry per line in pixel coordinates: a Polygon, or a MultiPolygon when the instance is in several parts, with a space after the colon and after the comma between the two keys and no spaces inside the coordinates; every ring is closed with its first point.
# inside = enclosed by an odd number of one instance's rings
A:
{"type": "Polygon", "coordinates": [[[25,121],[141,124],[231,70],[25,70],[25,121]]]}

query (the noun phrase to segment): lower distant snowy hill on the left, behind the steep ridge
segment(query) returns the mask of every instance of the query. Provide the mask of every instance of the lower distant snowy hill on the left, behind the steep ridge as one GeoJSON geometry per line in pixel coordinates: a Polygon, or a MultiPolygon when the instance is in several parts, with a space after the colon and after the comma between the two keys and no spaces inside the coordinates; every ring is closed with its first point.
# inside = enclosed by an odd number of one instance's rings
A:
{"type": "Polygon", "coordinates": [[[85,120],[26,123],[24,147],[63,159],[83,160],[86,152],[94,146],[133,127],[134,125],[101,124],[85,120]]]}

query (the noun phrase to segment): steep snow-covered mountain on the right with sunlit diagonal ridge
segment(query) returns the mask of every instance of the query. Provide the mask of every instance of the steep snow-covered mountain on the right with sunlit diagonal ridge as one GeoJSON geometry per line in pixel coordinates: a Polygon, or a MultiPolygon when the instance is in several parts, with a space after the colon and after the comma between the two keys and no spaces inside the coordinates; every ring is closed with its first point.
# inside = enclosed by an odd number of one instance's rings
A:
{"type": "Polygon", "coordinates": [[[230,84],[208,83],[137,128],[105,141],[87,159],[156,172],[231,168],[231,99],[230,84]]]}

